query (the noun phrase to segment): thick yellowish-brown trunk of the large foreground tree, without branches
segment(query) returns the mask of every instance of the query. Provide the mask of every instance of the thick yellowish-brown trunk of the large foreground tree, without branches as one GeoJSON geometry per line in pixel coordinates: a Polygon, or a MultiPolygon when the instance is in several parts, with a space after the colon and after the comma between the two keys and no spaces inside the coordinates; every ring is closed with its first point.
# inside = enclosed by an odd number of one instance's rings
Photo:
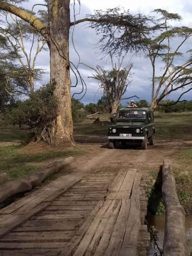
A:
{"type": "Polygon", "coordinates": [[[48,0],[51,83],[56,86],[54,95],[58,98],[58,113],[52,125],[52,142],[56,145],[74,143],[68,45],[69,4],[70,0],[48,0]]]}

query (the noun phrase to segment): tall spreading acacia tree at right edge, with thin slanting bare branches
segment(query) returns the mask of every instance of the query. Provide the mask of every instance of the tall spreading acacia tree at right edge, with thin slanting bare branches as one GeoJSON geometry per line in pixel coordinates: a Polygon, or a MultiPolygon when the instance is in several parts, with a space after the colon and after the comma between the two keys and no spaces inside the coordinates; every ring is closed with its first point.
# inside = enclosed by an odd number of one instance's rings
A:
{"type": "Polygon", "coordinates": [[[152,64],[152,109],[156,109],[158,105],[161,105],[164,97],[177,90],[182,89],[173,104],[180,102],[181,97],[192,90],[192,58],[186,60],[188,54],[184,56],[184,53],[180,52],[184,43],[192,36],[192,29],[170,26],[170,20],[181,19],[176,13],[168,13],[161,9],[155,12],[161,15],[161,31],[163,32],[148,40],[148,58],[152,64]],[[179,41],[179,44],[173,47],[172,43],[175,39],[179,41]],[[185,58],[179,60],[178,57],[181,56],[185,58]],[[160,76],[157,76],[158,60],[163,63],[160,76]]]}

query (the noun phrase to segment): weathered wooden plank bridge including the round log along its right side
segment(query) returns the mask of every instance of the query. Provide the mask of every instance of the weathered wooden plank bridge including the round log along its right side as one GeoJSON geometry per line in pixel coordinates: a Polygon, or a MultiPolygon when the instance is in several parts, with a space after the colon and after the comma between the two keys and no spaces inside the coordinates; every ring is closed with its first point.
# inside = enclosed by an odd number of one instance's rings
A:
{"type": "MultiPolygon", "coordinates": [[[[165,256],[189,255],[168,161],[162,170],[165,256]]],[[[0,211],[0,256],[148,255],[147,184],[136,169],[69,172],[0,211]]]]}

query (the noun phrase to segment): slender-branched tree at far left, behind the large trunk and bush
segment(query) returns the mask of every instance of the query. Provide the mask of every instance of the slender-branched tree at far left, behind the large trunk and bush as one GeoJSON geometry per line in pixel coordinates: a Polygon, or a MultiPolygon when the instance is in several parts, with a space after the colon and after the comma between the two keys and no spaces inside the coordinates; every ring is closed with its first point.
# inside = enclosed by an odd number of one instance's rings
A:
{"type": "MultiPolygon", "coordinates": [[[[35,81],[39,80],[42,76],[42,71],[39,68],[35,68],[36,58],[45,49],[44,45],[46,42],[42,36],[36,33],[33,27],[12,14],[6,15],[6,22],[8,24],[6,28],[0,27],[0,35],[6,40],[6,44],[3,47],[3,54],[6,54],[5,62],[15,63],[15,61],[19,61],[17,68],[19,68],[20,72],[15,70],[15,77],[19,76],[20,79],[23,77],[23,80],[26,80],[26,85],[29,87],[28,91],[33,92],[35,81]],[[9,18],[12,22],[9,21],[9,18]],[[29,52],[26,51],[25,40],[31,41],[29,52]],[[36,49],[33,54],[34,48],[36,49]]],[[[7,79],[9,79],[8,76],[7,79]]]]}

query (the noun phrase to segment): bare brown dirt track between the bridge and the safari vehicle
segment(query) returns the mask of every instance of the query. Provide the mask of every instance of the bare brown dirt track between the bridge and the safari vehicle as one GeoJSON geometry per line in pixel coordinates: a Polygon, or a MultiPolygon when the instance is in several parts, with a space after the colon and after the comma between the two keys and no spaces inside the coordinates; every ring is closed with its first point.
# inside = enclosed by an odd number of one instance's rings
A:
{"type": "MultiPolygon", "coordinates": [[[[173,166],[177,164],[180,150],[192,147],[192,141],[156,141],[154,146],[148,146],[147,150],[138,147],[122,148],[118,145],[115,149],[109,149],[107,145],[86,145],[90,153],[86,156],[77,157],[73,167],[81,169],[86,163],[91,166],[95,163],[97,169],[113,168],[136,168],[139,172],[158,171],[164,159],[170,159],[173,166]],[[98,156],[98,157],[97,157],[98,156]]],[[[95,168],[95,167],[94,167],[95,168]]]]}

